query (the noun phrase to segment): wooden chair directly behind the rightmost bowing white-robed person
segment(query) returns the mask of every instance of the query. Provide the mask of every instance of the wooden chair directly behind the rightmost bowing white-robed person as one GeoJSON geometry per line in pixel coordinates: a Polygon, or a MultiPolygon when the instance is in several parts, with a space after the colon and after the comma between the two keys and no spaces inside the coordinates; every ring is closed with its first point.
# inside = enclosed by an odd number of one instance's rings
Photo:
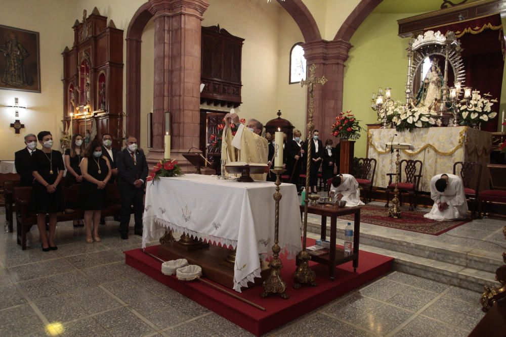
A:
{"type": "Polygon", "coordinates": [[[478,193],[480,190],[482,165],[478,162],[456,162],[453,164],[453,174],[462,178],[466,199],[471,202],[471,216],[478,213],[478,193]],[[460,171],[457,168],[460,167],[460,171]],[[457,173],[458,172],[458,173],[457,173]]]}

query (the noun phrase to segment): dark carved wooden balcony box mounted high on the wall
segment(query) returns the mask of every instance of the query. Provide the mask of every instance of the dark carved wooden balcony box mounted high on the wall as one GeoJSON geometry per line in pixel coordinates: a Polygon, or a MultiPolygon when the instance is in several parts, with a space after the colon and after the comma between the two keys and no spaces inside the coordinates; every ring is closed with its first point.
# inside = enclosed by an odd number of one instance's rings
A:
{"type": "Polygon", "coordinates": [[[238,107],[241,104],[241,55],[244,39],[220,26],[202,27],[200,103],[238,107]]]}

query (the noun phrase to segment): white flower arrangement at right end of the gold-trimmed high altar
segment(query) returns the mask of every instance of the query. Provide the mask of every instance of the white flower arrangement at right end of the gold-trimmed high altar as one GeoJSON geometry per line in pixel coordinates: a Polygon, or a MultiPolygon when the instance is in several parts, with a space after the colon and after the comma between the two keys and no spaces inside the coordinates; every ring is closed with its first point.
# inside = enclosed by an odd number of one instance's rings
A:
{"type": "Polygon", "coordinates": [[[482,121],[487,122],[489,119],[497,116],[496,112],[492,111],[492,106],[497,103],[496,99],[490,99],[492,95],[485,93],[480,95],[480,91],[475,90],[472,93],[469,103],[467,100],[462,100],[456,106],[459,114],[459,124],[466,126],[476,126],[482,121]]]}

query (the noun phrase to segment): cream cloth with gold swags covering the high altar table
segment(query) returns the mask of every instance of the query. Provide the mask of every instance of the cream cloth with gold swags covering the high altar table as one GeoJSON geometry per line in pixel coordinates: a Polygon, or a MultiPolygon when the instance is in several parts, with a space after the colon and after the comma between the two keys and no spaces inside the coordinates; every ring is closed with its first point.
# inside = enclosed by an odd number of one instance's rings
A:
{"type": "MultiPolygon", "coordinates": [[[[387,173],[395,172],[396,155],[395,153],[392,155],[390,149],[385,149],[385,145],[390,144],[392,138],[394,144],[409,143],[414,146],[413,151],[400,150],[401,160],[420,160],[424,163],[418,186],[420,191],[431,190],[430,181],[436,174],[453,173],[455,162],[482,163],[480,190],[488,188],[489,172],[486,164],[490,162],[492,151],[490,132],[467,126],[416,128],[402,132],[395,129],[371,129],[368,135],[369,153],[367,156],[377,161],[374,185],[378,187],[387,187],[389,180],[387,173]],[[397,136],[393,138],[396,133],[397,136]]],[[[459,171],[456,173],[458,175],[459,171]]],[[[401,172],[401,177],[405,177],[404,172],[401,172]]],[[[473,181],[472,183],[474,185],[473,181]]]]}

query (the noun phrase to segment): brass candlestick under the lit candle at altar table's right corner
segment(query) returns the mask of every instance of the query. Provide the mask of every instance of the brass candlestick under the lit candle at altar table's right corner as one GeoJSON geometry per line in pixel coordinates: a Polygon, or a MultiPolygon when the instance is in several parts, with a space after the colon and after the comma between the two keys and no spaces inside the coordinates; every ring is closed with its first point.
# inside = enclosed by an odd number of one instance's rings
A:
{"type": "Polygon", "coordinates": [[[274,201],[276,202],[276,213],[274,217],[274,246],[272,246],[272,258],[269,261],[269,268],[271,269],[271,274],[269,278],[264,281],[262,284],[264,286],[264,292],[260,294],[261,297],[267,297],[269,294],[279,294],[281,298],[288,299],[289,296],[285,293],[286,291],[286,283],[281,278],[281,268],[283,268],[283,264],[281,263],[281,259],[279,258],[279,252],[281,251],[281,247],[279,247],[278,243],[278,234],[279,234],[279,201],[281,200],[281,193],[279,192],[279,185],[281,181],[279,180],[280,175],[285,172],[281,168],[274,168],[271,170],[272,173],[276,174],[276,192],[273,195],[274,201]]]}

